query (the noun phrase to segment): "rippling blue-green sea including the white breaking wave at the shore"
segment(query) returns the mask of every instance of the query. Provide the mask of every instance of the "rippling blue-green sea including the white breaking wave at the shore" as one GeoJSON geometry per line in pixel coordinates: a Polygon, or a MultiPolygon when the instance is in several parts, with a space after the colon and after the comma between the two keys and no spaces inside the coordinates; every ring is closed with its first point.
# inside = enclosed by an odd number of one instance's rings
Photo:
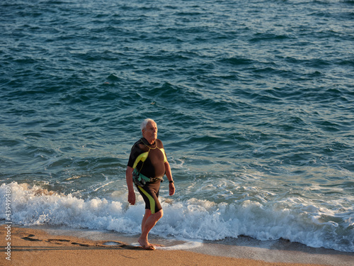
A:
{"type": "Polygon", "coordinates": [[[2,0],[0,35],[2,221],[139,233],[153,118],[152,233],[354,252],[354,1],[2,0]]]}

